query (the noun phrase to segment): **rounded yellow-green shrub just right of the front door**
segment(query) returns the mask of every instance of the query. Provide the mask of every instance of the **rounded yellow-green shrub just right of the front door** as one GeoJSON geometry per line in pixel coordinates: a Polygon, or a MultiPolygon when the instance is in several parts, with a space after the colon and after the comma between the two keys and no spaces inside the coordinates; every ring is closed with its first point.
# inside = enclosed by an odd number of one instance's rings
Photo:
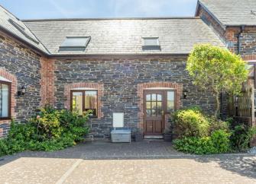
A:
{"type": "Polygon", "coordinates": [[[177,138],[204,137],[209,134],[209,122],[199,108],[181,109],[173,113],[173,133],[177,138]]]}

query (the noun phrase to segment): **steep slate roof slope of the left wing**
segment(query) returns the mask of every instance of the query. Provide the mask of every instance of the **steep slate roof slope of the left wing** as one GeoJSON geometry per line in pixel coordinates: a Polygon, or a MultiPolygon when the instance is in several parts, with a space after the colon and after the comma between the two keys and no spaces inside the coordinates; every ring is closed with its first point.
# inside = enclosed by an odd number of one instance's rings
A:
{"type": "Polygon", "coordinates": [[[7,11],[0,5],[0,28],[3,30],[18,36],[24,42],[27,42],[34,46],[37,49],[40,49],[43,52],[47,52],[47,49],[37,40],[37,37],[31,32],[31,30],[26,27],[26,25],[20,21],[17,17],[7,11]],[[15,27],[16,25],[16,27],[15,27]],[[21,30],[18,30],[18,27],[21,28],[24,32],[22,33],[21,30]]]}

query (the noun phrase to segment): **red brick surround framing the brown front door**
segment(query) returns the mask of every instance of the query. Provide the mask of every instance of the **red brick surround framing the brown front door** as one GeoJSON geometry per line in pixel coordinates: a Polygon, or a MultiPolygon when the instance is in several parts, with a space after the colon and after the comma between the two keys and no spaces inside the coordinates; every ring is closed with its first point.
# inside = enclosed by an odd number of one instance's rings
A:
{"type": "MultiPolygon", "coordinates": [[[[183,90],[183,84],[177,84],[177,83],[172,83],[172,82],[150,82],[150,83],[143,83],[143,84],[138,84],[138,97],[139,97],[139,103],[138,103],[138,119],[139,119],[139,124],[138,128],[143,128],[144,126],[144,90],[147,88],[152,88],[152,87],[168,87],[168,88],[173,88],[176,90],[176,107],[177,109],[182,106],[180,98],[182,97],[182,90],[183,90]]],[[[167,119],[167,117],[166,117],[167,119]]],[[[167,123],[167,120],[166,120],[167,123]]]]}

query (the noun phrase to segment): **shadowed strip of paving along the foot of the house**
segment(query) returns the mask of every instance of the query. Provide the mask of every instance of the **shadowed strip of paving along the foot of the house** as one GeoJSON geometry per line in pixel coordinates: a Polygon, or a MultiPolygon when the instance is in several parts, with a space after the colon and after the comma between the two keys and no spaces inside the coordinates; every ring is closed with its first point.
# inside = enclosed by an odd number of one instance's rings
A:
{"type": "Polygon", "coordinates": [[[153,160],[153,159],[188,159],[199,163],[215,162],[219,167],[238,173],[241,176],[256,179],[256,157],[250,154],[216,154],[198,156],[175,151],[168,142],[131,142],[110,143],[93,141],[78,144],[62,151],[25,151],[19,154],[0,157],[0,167],[21,157],[83,159],[83,160],[153,160]]]}

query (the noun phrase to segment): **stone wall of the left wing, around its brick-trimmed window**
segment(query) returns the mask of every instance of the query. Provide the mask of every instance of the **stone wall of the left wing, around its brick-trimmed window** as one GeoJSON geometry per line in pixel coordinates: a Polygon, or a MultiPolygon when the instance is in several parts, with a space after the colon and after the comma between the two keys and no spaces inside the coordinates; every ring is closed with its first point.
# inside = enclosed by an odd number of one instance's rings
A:
{"type": "MultiPolygon", "coordinates": [[[[31,117],[34,109],[37,109],[41,103],[40,56],[0,32],[0,68],[17,79],[16,89],[11,91],[14,95],[11,103],[15,103],[14,110],[11,110],[11,117],[24,122],[31,117]],[[27,87],[26,93],[18,98],[17,90],[22,86],[27,87]]],[[[5,76],[2,77],[5,78],[5,76]]],[[[10,121],[0,121],[0,137],[7,134],[9,124],[10,121]]]]}

